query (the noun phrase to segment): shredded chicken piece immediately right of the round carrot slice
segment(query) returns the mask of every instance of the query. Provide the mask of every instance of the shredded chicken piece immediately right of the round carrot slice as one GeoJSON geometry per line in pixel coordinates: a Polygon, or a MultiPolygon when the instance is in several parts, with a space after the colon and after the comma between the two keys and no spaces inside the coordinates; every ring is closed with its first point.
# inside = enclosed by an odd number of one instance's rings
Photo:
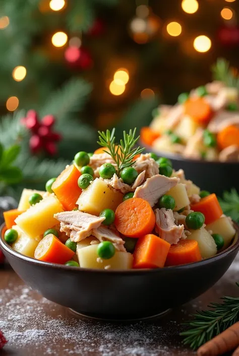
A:
{"type": "Polygon", "coordinates": [[[154,214],[156,218],[155,230],[159,237],[171,245],[176,244],[183,235],[184,225],[177,226],[175,224],[172,210],[155,209],[154,214]]]}

